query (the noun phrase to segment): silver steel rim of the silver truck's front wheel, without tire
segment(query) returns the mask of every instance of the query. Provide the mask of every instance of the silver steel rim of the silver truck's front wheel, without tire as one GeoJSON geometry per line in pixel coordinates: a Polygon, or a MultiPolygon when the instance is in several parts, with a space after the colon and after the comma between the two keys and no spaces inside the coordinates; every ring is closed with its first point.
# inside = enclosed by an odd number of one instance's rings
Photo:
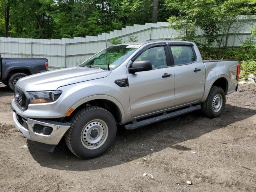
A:
{"type": "Polygon", "coordinates": [[[81,141],[84,147],[96,149],[102,146],[108,137],[108,126],[103,120],[90,121],[81,132],[81,141]]]}

